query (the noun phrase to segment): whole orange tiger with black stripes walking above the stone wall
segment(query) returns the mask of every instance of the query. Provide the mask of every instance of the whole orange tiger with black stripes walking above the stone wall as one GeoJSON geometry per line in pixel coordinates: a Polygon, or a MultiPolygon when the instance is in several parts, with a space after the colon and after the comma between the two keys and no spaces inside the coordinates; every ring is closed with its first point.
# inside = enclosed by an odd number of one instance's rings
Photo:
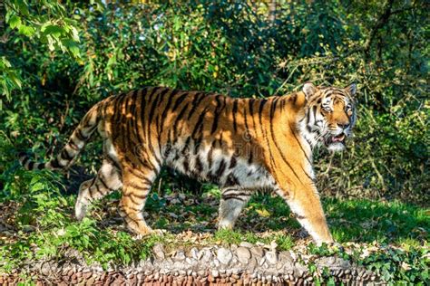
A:
{"type": "Polygon", "coordinates": [[[122,189],[118,211],[128,229],[160,232],[142,211],[161,167],[220,186],[219,229],[233,229],[251,195],[282,197],[315,243],[334,243],[320,202],[312,154],[318,146],[346,148],[356,122],[356,84],[316,86],[268,98],[146,87],[99,101],[51,160],[20,162],[27,170],[70,167],[95,131],[103,163],[79,187],[75,216],[94,200],[122,189]]]}

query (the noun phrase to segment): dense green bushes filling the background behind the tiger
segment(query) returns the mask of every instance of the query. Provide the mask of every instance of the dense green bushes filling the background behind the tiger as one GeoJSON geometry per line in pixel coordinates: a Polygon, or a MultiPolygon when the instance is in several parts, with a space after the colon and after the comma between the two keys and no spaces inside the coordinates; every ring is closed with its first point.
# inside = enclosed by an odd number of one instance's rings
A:
{"type": "MultiPolygon", "coordinates": [[[[66,2],[64,9],[50,4],[51,10],[36,3],[26,6],[26,16],[21,6],[12,8],[15,1],[7,3],[0,71],[11,100],[1,111],[8,144],[3,172],[16,171],[15,148],[31,146],[39,157],[52,156],[84,112],[111,93],[165,85],[265,97],[297,91],[305,81],[357,81],[357,136],[344,154],[318,151],[320,189],[429,201],[428,45],[421,2],[282,2],[273,21],[262,3],[66,2]],[[32,27],[25,22],[32,16],[39,21],[34,33],[17,28],[16,17],[32,27]],[[46,31],[46,23],[55,27],[46,31]],[[19,81],[21,89],[13,90],[19,81]]],[[[87,148],[87,169],[98,148],[87,148]]],[[[5,191],[14,177],[2,176],[5,191]]]]}

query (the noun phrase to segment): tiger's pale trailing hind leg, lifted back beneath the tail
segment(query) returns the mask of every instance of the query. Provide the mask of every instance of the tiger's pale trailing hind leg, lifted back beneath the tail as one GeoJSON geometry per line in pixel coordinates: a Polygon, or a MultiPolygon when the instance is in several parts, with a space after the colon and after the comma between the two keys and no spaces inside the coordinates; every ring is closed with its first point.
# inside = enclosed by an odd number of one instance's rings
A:
{"type": "Polygon", "coordinates": [[[74,205],[74,214],[78,220],[86,215],[87,208],[94,200],[101,199],[122,186],[121,170],[104,159],[97,176],[85,181],[79,187],[79,195],[74,205]]]}

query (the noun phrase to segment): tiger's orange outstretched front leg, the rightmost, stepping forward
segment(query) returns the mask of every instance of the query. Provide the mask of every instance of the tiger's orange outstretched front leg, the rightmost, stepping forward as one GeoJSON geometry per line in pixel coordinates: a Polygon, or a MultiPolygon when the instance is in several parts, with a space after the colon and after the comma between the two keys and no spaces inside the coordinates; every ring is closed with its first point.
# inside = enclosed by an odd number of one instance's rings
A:
{"type": "Polygon", "coordinates": [[[278,193],[287,201],[291,212],[296,215],[298,223],[306,229],[315,243],[318,245],[334,243],[316,188],[310,186],[298,188],[289,195],[282,190],[279,190],[278,193]]]}

